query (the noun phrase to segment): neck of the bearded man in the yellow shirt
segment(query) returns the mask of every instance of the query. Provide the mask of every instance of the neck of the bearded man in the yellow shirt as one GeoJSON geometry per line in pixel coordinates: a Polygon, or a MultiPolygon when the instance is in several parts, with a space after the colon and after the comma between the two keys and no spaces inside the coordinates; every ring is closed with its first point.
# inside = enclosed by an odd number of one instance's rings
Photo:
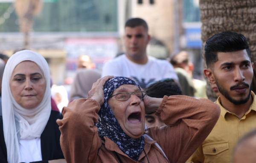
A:
{"type": "Polygon", "coordinates": [[[227,109],[229,112],[236,114],[239,119],[241,119],[244,114],[250,109],[250,106],[253,103],[253,97],[250,95],[250,99],[241,105],[235,105],[231,103],[227,98],[225,98],[222,94],[220,95],[221,98],[221,106],[227,109]]]}

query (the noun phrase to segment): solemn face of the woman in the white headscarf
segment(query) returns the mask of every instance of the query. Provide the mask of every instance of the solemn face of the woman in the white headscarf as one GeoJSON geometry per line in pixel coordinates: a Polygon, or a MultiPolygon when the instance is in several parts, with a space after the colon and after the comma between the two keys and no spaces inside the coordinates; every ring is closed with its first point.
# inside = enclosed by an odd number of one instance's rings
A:
{"type": "Polygon", "coordinates": [[[23,61],[12,73],[10,89],[21,107],[35,109],[43,100],[46,80],[35,62],[23,61]]]}

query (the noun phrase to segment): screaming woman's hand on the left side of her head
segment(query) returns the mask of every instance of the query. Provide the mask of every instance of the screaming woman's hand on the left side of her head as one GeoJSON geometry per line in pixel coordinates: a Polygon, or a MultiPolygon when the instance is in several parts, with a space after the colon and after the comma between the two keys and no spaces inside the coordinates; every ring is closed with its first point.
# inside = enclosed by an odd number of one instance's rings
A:
{"type": "Polygon", "coordinates": [[[106,81],[111,79],[114,76],[105,76],[96,81],[96,83],[93,83],[92,89],[88,92],[88,98],[91,98],[93,100],[96,100],[100,106],[104,103],[104,91],[103,87],[106,81]]]}

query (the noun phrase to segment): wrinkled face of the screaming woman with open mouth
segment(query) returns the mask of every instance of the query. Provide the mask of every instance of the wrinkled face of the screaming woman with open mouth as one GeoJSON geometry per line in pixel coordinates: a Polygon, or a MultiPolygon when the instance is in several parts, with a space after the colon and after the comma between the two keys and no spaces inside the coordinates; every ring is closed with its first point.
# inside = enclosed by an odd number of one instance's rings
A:
{"type": "MultiPolygon", "coordinates": [[[[117,88],[112,95],[121,92],[132,93],[137,91],[140,91],[137,86],[125,84],[117,88]]],[[[134,94],[131,94],[131,97],[126,101],[118,101],[114,96],[108,99],[108,105],[125,134],[134,139],[143,135],[145,130],[145,107],[143,100],[134,94]]]]}

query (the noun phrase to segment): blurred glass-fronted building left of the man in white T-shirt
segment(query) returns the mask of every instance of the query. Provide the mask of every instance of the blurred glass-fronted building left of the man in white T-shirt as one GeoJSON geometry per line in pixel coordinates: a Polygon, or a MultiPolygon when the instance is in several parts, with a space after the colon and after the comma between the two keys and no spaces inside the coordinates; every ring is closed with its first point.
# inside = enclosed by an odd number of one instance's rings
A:
{"type": "MultiPolygon", "coordinates": [[[[29,35],[30,49],[50,67],[53,81],[62,84],[76,72],[76,59],[88,54],[101,69],[118,51],[117,0],[44,0],[29,35]]],[[[0,51],[23,49],[14,0],[0,0],[0,51]]]]}

